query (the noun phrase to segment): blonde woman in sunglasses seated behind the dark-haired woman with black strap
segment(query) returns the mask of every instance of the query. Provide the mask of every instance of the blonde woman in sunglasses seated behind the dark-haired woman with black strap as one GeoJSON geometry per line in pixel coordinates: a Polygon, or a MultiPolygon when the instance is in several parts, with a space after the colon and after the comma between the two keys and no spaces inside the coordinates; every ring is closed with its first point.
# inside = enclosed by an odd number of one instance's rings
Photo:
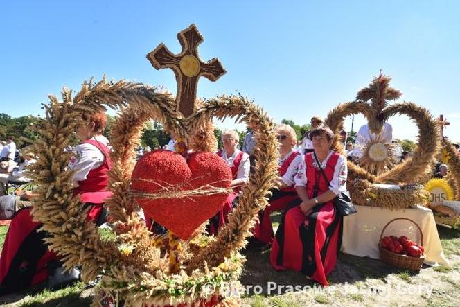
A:
{"type": "Polygon", "coordinates": [[[297,145],[297,135],[290,125],[281,124],[276,127],[276,137],[280,143],[278,158],[278,188],[272,189],[269,205],[259,213],[259,222],[254,227],[254,238],[261,243],[272,244],[274,239],[270,213],[283,211],[288,204],[298,198],[294,188],[294,176],[302,161],[297,145]]]}

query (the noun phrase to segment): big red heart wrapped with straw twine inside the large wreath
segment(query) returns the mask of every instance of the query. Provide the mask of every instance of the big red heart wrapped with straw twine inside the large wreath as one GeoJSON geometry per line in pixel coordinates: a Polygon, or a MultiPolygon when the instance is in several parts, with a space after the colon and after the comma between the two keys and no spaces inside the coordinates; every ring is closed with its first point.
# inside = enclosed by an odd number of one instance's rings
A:
{"type": "Polygon", "coordinates": [[[186,161],[176,152],[155,150],[145,154],[132,172],[134,200],[147,216],[183,240],[190,238],[197,227],[218,213],[228,193],[157,200],[136,193],[191,191],[206,185],[216,188],[231,186],[231,169],[211,152],[195,152],[186,161]]]}

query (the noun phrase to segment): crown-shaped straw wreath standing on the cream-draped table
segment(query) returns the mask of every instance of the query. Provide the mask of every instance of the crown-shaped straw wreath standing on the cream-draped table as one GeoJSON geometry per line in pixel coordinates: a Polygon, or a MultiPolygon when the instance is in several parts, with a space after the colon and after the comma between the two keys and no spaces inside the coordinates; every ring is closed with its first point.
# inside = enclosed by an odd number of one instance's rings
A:
{"type": "MultiPolygon", "coordinates": [[[[391,116],[406,115],[414,121],[418,127],[418,142],[412,158],[393,166],[395,161],[391,146],[381,143],[375,145],[379,141],[371,140],[364,146],[365,157],[361,160],[364,166],[358,166],[348,161],[348,188],[351,188],[353,202],[357,204],[372,203],[375,206],[382,205],[382,207],[398,209],[414,204],[425,204],[426,194],[423,192],[423,187],[414,186],[397,192],[389,192],[378,186],[373,186],[373,184],[419,182],[427,174],[430,174],[434,165],[434,155],[440,144],[440,133],[436,120],[432,118],[427,109],[407,102],[390,105],[391,100],[396,100],[401,95],[400,91],[389,86],[390,80],[389,76],[384,76],[380,72],[379,76],[375,77],[368,87],[358,92],[355,101],[339,104],[332,109],[325,123],[338,135],[345,117],[354,114],[363,114],[368,121],[369,130],[375,134],[382,131],[384,122],[388,121],[391,116]],[[373,159],[369,155],[369,149],[373,146],[379,146],[376,152],[380,152],[382,155],[379,155],[378,159],[375,157],[373,159]],[[383,153],[385,154],[383,155],[383,153]],[[361,180],[361,182],[357,182],[357,186],[354,186],[353,183],[355,179],[361,180]],[[360,188],[365,190],[360,190],[360,188]],[[399,193],[401,198],[400,200],[393,200],[388,193],[399,193]],[[371,202],[369,202],[370,199],[371,202]]],[[[333,148],[339,151],[343,150],[337,137],[333,148]]]]}

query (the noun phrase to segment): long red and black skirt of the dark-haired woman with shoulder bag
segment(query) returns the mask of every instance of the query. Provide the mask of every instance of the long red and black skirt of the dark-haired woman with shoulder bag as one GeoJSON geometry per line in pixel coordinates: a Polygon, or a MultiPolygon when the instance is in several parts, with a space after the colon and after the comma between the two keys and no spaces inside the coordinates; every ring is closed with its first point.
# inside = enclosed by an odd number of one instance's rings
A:
{"type": "Polygon", "coordinates": [[[342,217],[332,201],[317,205],[310,216],[294,200],[284,211],[272,244],[270,263],[276,270],[296,270],[328,285],[342,245],[342,217]]]}

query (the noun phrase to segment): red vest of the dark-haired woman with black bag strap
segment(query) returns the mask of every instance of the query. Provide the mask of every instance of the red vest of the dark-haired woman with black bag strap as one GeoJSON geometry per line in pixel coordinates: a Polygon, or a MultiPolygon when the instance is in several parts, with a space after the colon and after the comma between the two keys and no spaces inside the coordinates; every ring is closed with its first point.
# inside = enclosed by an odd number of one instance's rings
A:
{"type": "MultiPolygon", "coordinates": [[[[337,152],[333,152],[333,154],[329,157],[328,163],[326,164],[326,168],[324,168],[324,173],[328,178],[329,182],[333,181],[334,177],[334,169],[337,161],[339,159],[339,154],[337,152]]],[[[313,161],[315,161],[315,157],[313,157],[313,152],[309,152],[305,155],[305,164],[306,164],[306,176],[307,176],[307,193],[308,197],[312,198],[313,193],[315,191],[315,185],[318,184],[317,190],[318,194],[316,196],[321,195],[322,193],[328,191],[329,184],[324,180],[323,175],[321,174],[321,170],[315,168],[313,166],[313,161]]]]}

